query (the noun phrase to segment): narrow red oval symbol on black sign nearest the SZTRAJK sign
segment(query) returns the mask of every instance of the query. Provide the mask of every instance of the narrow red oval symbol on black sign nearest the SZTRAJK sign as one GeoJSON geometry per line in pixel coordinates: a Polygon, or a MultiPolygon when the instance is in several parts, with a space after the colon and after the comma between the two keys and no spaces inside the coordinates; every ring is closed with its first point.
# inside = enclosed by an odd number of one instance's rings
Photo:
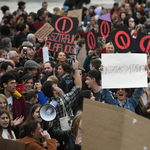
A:
{"type": "Polygon", "coordinates": [[[96,39],[95,39],[93,32],[91,32],[91,31],[89,31],[87,34],[87,44],[88,44],[89,49],[96,48],[96,39]],[[91,43],[90,43],[90,41],[91,41],[91,43]]]}

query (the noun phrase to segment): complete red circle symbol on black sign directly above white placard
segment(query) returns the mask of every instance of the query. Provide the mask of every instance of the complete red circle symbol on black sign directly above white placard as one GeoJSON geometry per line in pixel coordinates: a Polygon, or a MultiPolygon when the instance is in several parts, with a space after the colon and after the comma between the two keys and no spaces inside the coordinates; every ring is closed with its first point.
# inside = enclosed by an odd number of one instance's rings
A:
{"type": "Polygon", "coordinates": [[[118,32],[116,33],[116,35],[115,35],[115,43],[116,43],[116,46],[117,46],[118,48],[120,48],[120,49],[122,49],[122,50],[127,49],[127,48],[130,46],[130,36],[129,36],[125,31],[118,31],[118,32]],[[127,38],[127,43],[125,43],[123,37],[120,36],[120,35],[125,35],[125,36],[126,36],[126,38],[127,38]],[[120,36],[120,39],[121,39],[121,42],[122,42],[123,46],[120,45],[119,42],[118,42],[119,36],[120,36]]]}

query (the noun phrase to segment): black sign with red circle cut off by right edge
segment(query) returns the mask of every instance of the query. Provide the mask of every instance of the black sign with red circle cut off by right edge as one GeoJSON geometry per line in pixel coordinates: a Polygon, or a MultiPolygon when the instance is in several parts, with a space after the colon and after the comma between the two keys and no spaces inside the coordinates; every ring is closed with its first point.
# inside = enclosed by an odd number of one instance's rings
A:
{"type": "Polygon", "coordinates": [[[136,45],[138,48],[135,49],[135,52],[150,53],[150,35],[139,32],[136,45]]]}

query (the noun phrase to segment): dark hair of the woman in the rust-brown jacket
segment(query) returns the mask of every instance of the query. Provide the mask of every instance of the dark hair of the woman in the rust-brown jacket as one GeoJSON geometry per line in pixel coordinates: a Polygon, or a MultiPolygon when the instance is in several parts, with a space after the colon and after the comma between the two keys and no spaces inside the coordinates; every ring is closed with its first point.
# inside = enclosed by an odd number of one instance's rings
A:
{"type": "Polygon", "coordinates": [[[33,132],[33,133],[35,132],[38,123],[39,122],[35,121],[35,120],[29,121],[28,123],[26,123],[24,125],[23,130],[21,131],[21,133],[19,135],[19,138],[24,138],[25,136],[32,137],[31,132],[33,132]]]}

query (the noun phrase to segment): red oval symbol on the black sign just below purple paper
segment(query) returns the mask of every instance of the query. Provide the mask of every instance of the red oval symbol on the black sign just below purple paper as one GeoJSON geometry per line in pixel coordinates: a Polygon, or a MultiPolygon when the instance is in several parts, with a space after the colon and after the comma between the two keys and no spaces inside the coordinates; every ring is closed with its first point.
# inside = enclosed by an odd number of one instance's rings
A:
{"type": "Polygon", "coordinates": [[[109,23],[107,21],[102,21],[102,23],[100,25],[101,36],[105,37],[105,38],[108,38],[109,32],[110,32],[109,23]],[[103,30],[103,26],[104,26],[104,30],[103,30]],[[107,27],[107,32],[106,32],[106,27],[107,27]]]}

